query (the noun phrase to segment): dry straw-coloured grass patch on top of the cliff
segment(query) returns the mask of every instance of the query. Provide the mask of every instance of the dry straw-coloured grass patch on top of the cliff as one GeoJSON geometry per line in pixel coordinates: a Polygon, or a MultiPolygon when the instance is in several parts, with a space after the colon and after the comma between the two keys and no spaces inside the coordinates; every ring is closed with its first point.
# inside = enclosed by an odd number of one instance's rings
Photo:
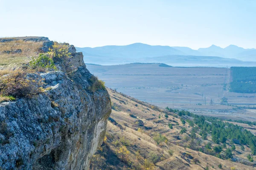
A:
{"type": "Polygon", "coordinates": [[[0,68],[13,68],[27,63],[40,52],[43,42],[14,40],[0,42],[0,68]],[[21,49],[16,53],[15,50],[21,49]]]}

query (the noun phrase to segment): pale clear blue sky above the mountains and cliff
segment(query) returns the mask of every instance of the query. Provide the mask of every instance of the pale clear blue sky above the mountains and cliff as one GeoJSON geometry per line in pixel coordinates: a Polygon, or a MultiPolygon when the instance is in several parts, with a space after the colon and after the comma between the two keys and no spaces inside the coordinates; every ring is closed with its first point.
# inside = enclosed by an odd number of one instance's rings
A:
{"type": "Polygon", "coordinates": [[[256,48],[256,0],[0,0],[0,37],[256,48]]]}

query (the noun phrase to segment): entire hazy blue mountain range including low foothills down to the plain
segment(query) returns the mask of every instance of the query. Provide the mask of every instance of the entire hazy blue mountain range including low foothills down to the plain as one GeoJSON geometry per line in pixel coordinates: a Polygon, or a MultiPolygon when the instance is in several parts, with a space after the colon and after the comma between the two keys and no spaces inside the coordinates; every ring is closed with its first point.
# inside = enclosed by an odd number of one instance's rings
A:
{"type": "Polygon", "coordinates": [[[212,66],[212,64],[232,66],[252,66],[256,61],[256,49],[244,49],[230,45],[226,48],[212,45],[198,50],[178,46],[151,46],[134,43],[126,46],[76,47],[83,52],[86,63],[121,64],[132,62],[192,63],[193,66],[212,66]],[[197,63],[195,65],[195,63],[197,63]]]}

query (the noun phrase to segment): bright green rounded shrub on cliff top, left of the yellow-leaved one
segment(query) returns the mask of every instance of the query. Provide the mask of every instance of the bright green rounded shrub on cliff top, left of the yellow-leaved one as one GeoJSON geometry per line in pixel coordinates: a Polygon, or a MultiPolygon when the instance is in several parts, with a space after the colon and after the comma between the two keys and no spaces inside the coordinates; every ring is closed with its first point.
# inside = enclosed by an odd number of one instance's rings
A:
{"type": "Polygon", "coordinates": [[[45,54],[39,54],[37,58],[33,58],[33,60],[29,62],[29,66],[32,69],[57,69],[52,58],[49,58],[45,54]]]}

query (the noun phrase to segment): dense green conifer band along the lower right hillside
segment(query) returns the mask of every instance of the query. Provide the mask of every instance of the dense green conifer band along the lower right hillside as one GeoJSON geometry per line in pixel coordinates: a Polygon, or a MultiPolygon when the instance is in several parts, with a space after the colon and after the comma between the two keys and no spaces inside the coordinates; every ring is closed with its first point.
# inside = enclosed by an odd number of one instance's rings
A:
{"type": "Polygon", "coordinates": [[[230,140],[230,144],[239,144],[241,146],[247,145],[250,147],[251,153],[256,155],[256,136],[254,136],[250,131],[244,129],[241,126],[234,125],[228,122],[223,122],[218,118],[205,117],[202,115],[196,115],[185,110],[170,109],[166,107],[169,112],[175,112],[179,116],[187,115],[193,120],[187,120],[189,125],[194,128],[201,130],[200,135],[205,140],[208,134],[212,136],[212,141],[215,144],[222,143],[224,146],[227,143],[227,139],[230,140]]]}

